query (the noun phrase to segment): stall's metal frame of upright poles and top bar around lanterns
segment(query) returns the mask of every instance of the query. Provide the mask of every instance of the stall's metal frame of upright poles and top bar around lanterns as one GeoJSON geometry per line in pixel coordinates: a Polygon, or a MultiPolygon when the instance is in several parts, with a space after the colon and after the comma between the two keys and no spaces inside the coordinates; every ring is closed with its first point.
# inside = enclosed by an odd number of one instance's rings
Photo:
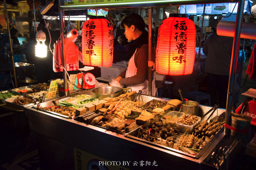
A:
{"type": "MultiPolygon", "coordinates": [[[[61,4],[64,4],[64,1],[63,0],[59,0],[58,1],[59,3],[59,15],[60,15],[60,18],[63,18],[63,10],[76,10],[76,9],[84,9],[84,6],[72,6],[72,7],[61,7],[61,4]]],[[[192,1],[194,2],[194,1],[192,1]]],[[[191,4],[192,3],[191,1],[187,1],[187,0],[184,0],[184,1],[174,1],[174,0],[170,0],[168,2],[162,2],[157,4],[157,5],[183,5],[183,4],[191,4]]],[[[223,2],[231,2],[231,1],[212,1],[212,0],[209,0],[207,1],[207,3],[223,3],[223,2]]],[[[234,1],[232,1],[234,2],[234,1]]],[[[232,103],[233,103],[233,95],[234,95],[234,85],[235,85],[235,75],[236,75],[236,64],[237,64],[237,58],[238,58],[238,55],[239,55],[239,41],[240,41],[240,33],[241,33],[241,28],[242,28],[242,22],[243,22],[243,11],[244,11],[244,2],[245,0],[239,0],[239,3],[238,3],[238,8],[237,8],[237,16],[236,16],[236,28],[235,28],[235,35],[234,35],[234,41],[233,41],[233,50],[232,50],[232,56],[231,56],[231,63],[230,63],[230,73],[229,73],[229,82],[228,82],[228,94],[227,94],[227,104],[226,104],[226,118],[225,118],[225,124],[230,124],[230,121],[231,121],[231,107],[232,107],[232,103]]],[[[196,3],[200,4],[204,4],[204,12],[205,12],[205,1],[201,0],[201,1],[196,1],[196,3]]],[[[154,4],[152,2],[152,4],[154,4]]],[[[140,4],[137,2],[136,3],[132,3],[132,4],[126,4],[125,7],[141,7],[141,6],[149,6],[149,5],[152,5],[152,4],[140,4]]],[[[113,4],[112,4],[113,5],[113,4]]],[[[109,7],[108,5],[97,5],[95,6],[97,8],[104,8],[104,7],[109,7]]],[[[119,4],[114,4],[114,8],[118,8],[120,7],[119,4]]],[[[90,8],[93,8],[92,5],[90,5],[90,8]]],[[[111,7],[113,8],[113,7],[111,7]]],[[[204,16],[204,14],[203,14],[204,16]]],[[[148,56],[148,61],[151,61],[151,9],[148,10],[148,21],[149,21],[149,56],[148,56]]],[[[203,18],[204,19],[204,18],[203,18]]],[[[203,25],[204,22],[202,22],[202,25],[203,25]]],[[[60,19],[60,32],[63,31],[63,19],[61,20],[60,19]]],[[[203,27],[202,27],[203,28],[203,27]]],[[[201,31],[202,32],[202,31],[201,31]]],[[[202,37],[202,36],[201,36],[202,37]]],[[[62,46],[62,49],[63,49],[63,46],[64,46],[64,35],[61,34],[61,46],[62,46]]],[[[200,46],[201,47],[201,41],[200,41],[200,46]]],[[[199,48],[200,49],[200,48],[199,48]]],[[[198,59],[200,57],[200,50],[199,50],[199,53],[198,53],[198,59]]],[[[66,58],[65,58],[65,53],[62,51],[62,60],[63,60],[63,63],[66,63],[66,58]]],[[[63,64],[64,68],[66,69],[66,64],[63,64]]],[[[149,92],[149,95],[152,95],[152,84],[150,83],[152,80],[151,78],[151,67],[148,67],[148,92],[149,92]]],[[[63,70],[63,79],[64,79],[64,88],[67,89],[68,87],[68,83],[67,83],[67,73],[63,70]]],[[[68,92],[65,91],[65,96],[68,95],[68,92]]],[[[226,138],[229,138],[229,133],[230,133],[230,130],[228,128],[225,127],[225,133],[226,133],[226,138]]]]}

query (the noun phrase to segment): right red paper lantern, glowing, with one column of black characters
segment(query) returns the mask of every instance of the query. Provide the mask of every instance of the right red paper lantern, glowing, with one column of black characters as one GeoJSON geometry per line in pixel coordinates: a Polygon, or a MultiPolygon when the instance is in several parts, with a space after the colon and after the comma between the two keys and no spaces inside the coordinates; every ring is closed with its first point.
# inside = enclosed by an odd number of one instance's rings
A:
{"type": "Polygon", "coordinates": [[[167,75],[193,72],[196,48],[196,27],[183,17],[164,19],[159,27],[156,46],[156,71],[167,75]]]}

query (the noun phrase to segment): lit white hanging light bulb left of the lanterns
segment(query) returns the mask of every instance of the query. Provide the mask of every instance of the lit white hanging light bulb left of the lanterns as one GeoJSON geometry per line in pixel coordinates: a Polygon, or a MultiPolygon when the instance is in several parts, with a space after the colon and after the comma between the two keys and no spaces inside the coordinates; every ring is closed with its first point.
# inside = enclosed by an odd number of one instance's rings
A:
{"type": "Polygon", "coordinates": [[[44,58],[47,55],[47,46],[44,44],[46,40],[46,35],[43,31],[38,31],[36,33],[35,53],[36,57],[44,58]]]}

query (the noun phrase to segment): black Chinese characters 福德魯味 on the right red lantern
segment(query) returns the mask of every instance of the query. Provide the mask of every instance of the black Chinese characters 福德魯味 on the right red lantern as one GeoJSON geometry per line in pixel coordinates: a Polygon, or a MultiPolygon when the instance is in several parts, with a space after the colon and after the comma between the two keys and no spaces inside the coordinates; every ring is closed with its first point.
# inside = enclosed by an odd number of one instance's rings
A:
{"type": "Polygon", "coordinates": [[[182,64],[182,62],[186,62],[184,53],[187,49],[186,47],[186,41],[187,41],[187,34],[186,30],[188,29],[185,21],[176,21],[177,23],[174,26],[175,30],[175,41],[176,41],[176,47],[177,49],[177,56],[172,57],[173,61],[176,61],[177,63],[182,64]]]}

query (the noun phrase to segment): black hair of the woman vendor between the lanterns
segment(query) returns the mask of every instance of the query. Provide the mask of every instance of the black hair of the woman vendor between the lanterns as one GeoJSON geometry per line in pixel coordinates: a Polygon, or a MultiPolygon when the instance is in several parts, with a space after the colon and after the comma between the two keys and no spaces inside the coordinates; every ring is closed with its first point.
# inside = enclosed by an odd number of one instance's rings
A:
{"type": "Polygon", "coordinates": [[[137,28],[140,31],[145,30],[145,26],[146,26],[144,19],[140,15],[135,13],[132,13],[127,17],[125,17],[121,23],[121,26],[123,28],[124,28],[124,24],[127,25],[128,27],[130,27],[131,25],[134,25],[135,29],[137,28]]]}

